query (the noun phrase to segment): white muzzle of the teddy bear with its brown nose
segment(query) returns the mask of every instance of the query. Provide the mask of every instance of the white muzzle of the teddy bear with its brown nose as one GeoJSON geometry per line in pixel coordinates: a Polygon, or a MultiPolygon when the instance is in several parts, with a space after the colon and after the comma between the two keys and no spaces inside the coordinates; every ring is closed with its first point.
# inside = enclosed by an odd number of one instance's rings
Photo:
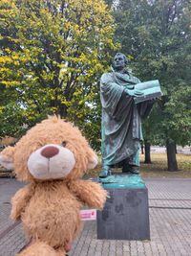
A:
{"type": "Polygon", "coordinates": [[[37,179],[58,179],[74,168],[74,153],[59,145],[49,144],[33,151],[28,159],[28,169],[37,179]]]}

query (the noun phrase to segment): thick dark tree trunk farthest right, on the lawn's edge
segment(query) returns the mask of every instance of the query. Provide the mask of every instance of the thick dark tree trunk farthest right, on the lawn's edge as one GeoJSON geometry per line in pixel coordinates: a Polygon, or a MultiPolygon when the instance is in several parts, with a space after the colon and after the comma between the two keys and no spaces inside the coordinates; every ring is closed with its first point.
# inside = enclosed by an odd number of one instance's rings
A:
{"type": "Polygon", "coordinates": [[[175,142],[167,140],[166,142],[167,160],[168,160],[168,171],[176,172],[179,171],[176,157],[175,142]]]}

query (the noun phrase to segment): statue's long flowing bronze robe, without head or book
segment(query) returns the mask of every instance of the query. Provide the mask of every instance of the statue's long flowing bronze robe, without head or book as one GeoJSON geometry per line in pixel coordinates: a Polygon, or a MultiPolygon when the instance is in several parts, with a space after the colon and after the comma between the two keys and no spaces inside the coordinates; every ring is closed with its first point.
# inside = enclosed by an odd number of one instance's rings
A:
{"type": "Polygon", "coordinates": [[[139,165],[139,142],[142,140],[141,119],[147,117],[152,104],[135,104],[134,98],[125,91],[140,82],[131,74],[105,73],[100,81],[102,105],[101,151],[102,165],[111,166],[128,157],[132,165],[139,165]]]}

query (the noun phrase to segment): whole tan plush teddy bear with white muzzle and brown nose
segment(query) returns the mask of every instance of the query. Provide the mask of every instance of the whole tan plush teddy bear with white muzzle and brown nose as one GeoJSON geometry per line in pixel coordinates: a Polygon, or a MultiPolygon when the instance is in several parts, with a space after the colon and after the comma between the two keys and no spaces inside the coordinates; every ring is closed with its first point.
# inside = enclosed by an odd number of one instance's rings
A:
{"type": "Polygon", "coordinates": [[[83,204],[102,209],[107,192],[81,177],[97,156],[73,124],[53,116],[0,153],[27,185],[11,198],[11,219],[21,220],[31,240],[19,256],[64,256],[81,228],[83,204]]]}

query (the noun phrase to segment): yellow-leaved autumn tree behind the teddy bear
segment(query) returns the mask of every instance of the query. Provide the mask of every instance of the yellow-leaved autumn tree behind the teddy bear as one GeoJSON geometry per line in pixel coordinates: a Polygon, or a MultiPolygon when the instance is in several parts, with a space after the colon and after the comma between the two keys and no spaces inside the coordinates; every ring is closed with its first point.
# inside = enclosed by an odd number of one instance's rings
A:
{"type": "Polygon", "coordinates": [[[86,130],[114,29],[102,0],[2,0],[0,90],[12,94],[19,123],[56,113],[86,130]]]}

